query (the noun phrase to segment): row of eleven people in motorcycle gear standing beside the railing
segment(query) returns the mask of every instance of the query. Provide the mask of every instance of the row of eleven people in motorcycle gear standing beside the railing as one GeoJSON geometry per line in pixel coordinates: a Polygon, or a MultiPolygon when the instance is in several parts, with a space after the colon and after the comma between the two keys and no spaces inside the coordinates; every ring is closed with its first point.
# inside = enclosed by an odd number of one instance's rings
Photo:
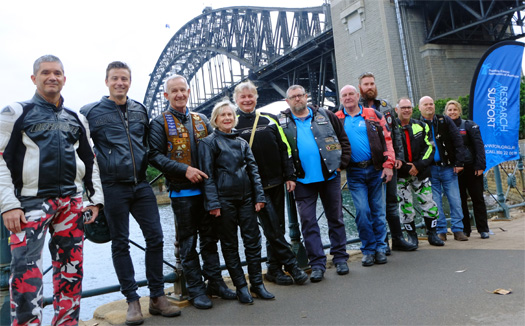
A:
{"type": "Polygon", "coordinates": [[[234,90],[235,104],[220,101],[208,119],[187,107],[188,82],[173,75],[164,84],[168,107],[150,121],[144,105],[127,96],[131,69],[123,62],[111,62],[106,69],[109,96],[85,105],[80,114],[64,107],[66,78],[59,58],[38,58],[31,79],[33,98],[0,111],[0,211],[11,232],[13,325],[42,323],[42,249],[48,230],[52,324],[78,324],[83,228],[102,209],[128,303],[126,324],[144,321],[129,251],[130,214],[146,243],[149,313],[181,314],[164,294],[163,226],[146,180],[149,164],[166,178],[189,301],[198,309],[212,308],[210,296],[243,304],[253,304],[253,297],[275,297],[263,283],[258,221],[266,238],[267,281],[322,281],[327,257],[316,215],[319,197],[336,272],[348,274],[343,170],[356,209],[363,266],[387,262],[387,221],[392,250],[417,249],[412,190],[431,245],[446,241],[443,191],[456,240],[468,240],[471,233],[467,191],[478,232],[489,236],[479,186],[485,169],[483,143],[477,125],[460,118],[455,101],[447,103],[441,116],[425,96],[419,103],[422,119],[414,120],[410,99],[401,98],[396,118],[386,101],[377,100],[373,74],[365,73],[359,91],[351,85],[340,90],[342,108],[336,113],[308,106],[305,89],[292,85],[286,92],[289,109],[272,115],[255,110],[257,88],[246,81],[234,90]],[[299,268],[285,238],[285,192],[297,205],[310,277],[299,268]],[[239,257],[239,229],[249,285],[239,257]],[[235,290],[222,277],[218,241],[235,290]]]}

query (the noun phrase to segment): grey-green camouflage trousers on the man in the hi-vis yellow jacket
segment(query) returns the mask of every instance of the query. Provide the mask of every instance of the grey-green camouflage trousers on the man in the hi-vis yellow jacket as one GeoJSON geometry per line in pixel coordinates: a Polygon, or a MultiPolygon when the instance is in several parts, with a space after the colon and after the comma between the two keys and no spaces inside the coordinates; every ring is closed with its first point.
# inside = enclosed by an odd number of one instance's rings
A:
{"type": "Polygon", "coordinates": [[[419,180],[417,177],[411,176],[406,179],[397,179],[397,196],[401,223],[411,223],[416,216],[412,192],[414,192],[415,199],[421,208],[421,216],[436,219],[439,213],[437,205],[432,199],[430,178],[419,180]]]}

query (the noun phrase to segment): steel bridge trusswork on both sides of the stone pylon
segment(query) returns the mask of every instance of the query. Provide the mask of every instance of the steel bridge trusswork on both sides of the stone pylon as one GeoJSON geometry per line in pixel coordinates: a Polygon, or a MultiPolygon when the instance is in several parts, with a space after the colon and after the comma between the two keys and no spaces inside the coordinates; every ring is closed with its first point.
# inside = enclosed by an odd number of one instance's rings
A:
{"type": "MultiPolygon", "coordinates": [[[[425,43],[490,45],[524,36],[523,1],[395,2],[424,17],[425,43]]],[[[331,16],[327,3],[311,8],[205,8],[162,51],[144,98],[150,116],[166,109],[164,81],[173,74],[190,83],[188,106],[207,115],[247,78],[258,87],[259,107],[283,99],[292,84],[305,87],[312,105],[337,107],[331,16]]]]}

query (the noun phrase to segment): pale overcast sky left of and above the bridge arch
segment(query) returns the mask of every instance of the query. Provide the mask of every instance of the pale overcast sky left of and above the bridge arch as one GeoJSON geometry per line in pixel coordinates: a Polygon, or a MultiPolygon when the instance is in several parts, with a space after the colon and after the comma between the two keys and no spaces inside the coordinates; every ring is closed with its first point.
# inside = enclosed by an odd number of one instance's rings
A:
{"type": "Polygon", "coordinates": [[[128,96],[143,101],[149,74],[162,50],[204,7],[262,3],[265,7],[315,7],[323,0],[2,1],[0,107],[33,96],[33,62],[44,54],[56,55],[64,63],[66,85],[62,95],[71,109],[78,110],[108,94],[105,69],[114,60],[131,67],[128,96]]]}

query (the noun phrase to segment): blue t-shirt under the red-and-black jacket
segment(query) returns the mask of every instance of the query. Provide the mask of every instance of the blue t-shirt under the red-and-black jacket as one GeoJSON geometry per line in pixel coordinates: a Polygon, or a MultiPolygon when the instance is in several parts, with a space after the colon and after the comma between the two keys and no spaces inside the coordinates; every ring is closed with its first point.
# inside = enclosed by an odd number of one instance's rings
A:
{"type": "Polygon", "coordinates": [[[362,116],[363,107],[359,107],[361,111],[359,111],[359,114],[355,117],[350,116],[346,113],[346,110],[343,109],[345,114],[345,131],[350,140],[350,147],[352,148],[350,161],[354,163],[372,159],[372,151],[370,150],[370,142],[368,141],[368,134],[366,132],[366,122],[362,116]]]}

